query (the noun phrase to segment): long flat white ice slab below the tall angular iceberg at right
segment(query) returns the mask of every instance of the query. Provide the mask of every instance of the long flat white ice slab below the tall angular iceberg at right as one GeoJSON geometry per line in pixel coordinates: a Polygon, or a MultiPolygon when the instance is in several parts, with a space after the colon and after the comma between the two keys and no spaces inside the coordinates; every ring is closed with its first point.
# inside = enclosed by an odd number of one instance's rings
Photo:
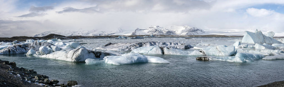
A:
{"type": "Polygon", "coordinates": [[[262,54],[265,56],[270,56],[270,55],[280,55],[283,54],[284,52],[281,50],[269,50],[269,49],[248,49],[248,48],[242,48],[236,50],[236,53],[251,53],[251,54],[262,54]]]}

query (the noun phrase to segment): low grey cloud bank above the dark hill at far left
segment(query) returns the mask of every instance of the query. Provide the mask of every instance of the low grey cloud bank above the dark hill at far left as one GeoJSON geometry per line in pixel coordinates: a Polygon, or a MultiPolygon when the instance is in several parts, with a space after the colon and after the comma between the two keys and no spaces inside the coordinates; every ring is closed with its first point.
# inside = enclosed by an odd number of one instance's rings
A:
{"type": "MultiPolygon", "coordinates": [[[[46,30],[58,29],[60,25],[51,21],[13,21],[0,20],[0,37],[33,36],[46,30]]],[[[62,26],[60,26],[62,28],[62,26]]]]}

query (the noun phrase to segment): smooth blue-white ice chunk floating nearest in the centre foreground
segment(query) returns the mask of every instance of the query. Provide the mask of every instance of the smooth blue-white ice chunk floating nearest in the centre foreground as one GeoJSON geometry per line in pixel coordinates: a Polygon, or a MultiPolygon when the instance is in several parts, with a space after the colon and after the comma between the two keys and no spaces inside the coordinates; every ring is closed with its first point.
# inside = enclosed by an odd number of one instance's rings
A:
{"type": "Polygon", "coordinates": [[[161,57],[145,56],[137,53],[127,53],[121,56],[106,56],[104,57],[105,63],[113,65],[125,65],[134,63],[169,63],[169,61],[161,57]]]}

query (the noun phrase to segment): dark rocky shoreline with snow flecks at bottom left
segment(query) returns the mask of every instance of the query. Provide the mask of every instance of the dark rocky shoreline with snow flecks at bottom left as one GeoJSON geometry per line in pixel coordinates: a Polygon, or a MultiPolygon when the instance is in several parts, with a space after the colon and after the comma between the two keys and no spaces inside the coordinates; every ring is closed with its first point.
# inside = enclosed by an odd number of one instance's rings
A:
{"type": "Polygon", "coordinates": [[[77,85],[77,81],[58,84],[46,75],[37,74],[34,70],[19,68],[15,62],[0,60],[0,87],[67,87],[77,85]]]}

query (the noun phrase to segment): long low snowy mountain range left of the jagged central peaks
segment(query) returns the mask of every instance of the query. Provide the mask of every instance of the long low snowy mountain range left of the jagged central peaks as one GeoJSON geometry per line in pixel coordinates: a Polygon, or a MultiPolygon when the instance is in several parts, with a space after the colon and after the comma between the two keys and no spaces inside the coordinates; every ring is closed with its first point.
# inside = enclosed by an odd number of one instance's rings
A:
{"type": "Polygon", "coordinates": [[[80,31],[70,31],[70,30],[53,30],[46,31],[35,35],[34,37],[44,37],[49,34],[57,34],[63,36],[106,36],[106,35],[130,35],[129,30],[122,30],[119,28],[117,31],[97,31],[97,30],[80,30],[80,31]]]}

